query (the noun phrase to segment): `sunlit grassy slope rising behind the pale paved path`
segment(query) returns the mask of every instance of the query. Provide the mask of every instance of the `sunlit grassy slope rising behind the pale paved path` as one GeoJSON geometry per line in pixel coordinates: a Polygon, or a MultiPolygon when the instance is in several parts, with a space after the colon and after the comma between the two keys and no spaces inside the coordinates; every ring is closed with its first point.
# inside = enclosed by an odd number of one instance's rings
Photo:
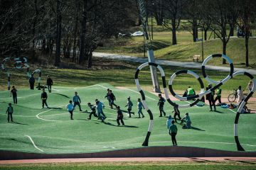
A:
{"type": "MultiPolygon", "coordinates": [[[[210,32],[208,33],[208,36],[210,32]]],[[[152,41],[154,55],[157,59],[173,60],[178,62],[192,62],[191,56],[202,55],[201,42],[193,42],[192,35],[188,31],[177,32],[178,45],[171,45],[171,33],[166,31],[154,33],[152,41]]],[[[201,38],[199,36],[199,38],[201,38]]],[[[144,57],[144,38],[119,38],[105,43],[105,47],[99,47],[97,52],[117,53],[144,57]]],[[[208,55],[222,53],[222,42],[220,39],[203,41],[204,58],[208,55]]],[[[245,39],[232,37],[227,45],[226,54],[233,60],[235,67],[245,67],[245,39]]],[[[249,62],[250,68],[255,68],[256,39],[249,40],[249,62]]],[[[202,60],[202,57],[201,57],[202,60]]],[[[222,65],[220,62],[213,64],[222,65]]]]}

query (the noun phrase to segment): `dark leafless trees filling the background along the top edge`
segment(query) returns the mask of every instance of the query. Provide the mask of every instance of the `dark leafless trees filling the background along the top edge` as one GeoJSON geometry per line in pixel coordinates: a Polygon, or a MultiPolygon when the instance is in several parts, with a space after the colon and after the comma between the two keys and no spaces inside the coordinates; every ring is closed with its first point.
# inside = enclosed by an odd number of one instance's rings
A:
{"type": "MultiPolygon", "coordinates": [[[[148,15],[171,31],[185,29],[198,40],[198,28],[223,42],[223,54],[238,27],[245,33],[245,61],[249,66],[250,26],[256,18],[254,0],[146,0],[148,15]]],[[[0,0],[0,57],[32,59],[42,55],[59,66],[63,58],[92,67],[92,52],[105,38],[135,26],[139,20],[136,0],[0,0]],[[38,51],[39,49],[39,51],[38,51]]],[[[140,23],[139,23],[140,24],[140,23]]],[[[225,60],[223,61],[225,63],[225,60]]]]}

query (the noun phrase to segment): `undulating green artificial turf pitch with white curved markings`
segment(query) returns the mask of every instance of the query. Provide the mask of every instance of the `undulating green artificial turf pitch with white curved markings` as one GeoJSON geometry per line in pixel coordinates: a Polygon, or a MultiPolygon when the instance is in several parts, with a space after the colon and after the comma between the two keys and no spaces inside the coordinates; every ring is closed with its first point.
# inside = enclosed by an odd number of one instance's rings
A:
{"type": "MultiPolygon", "coordinates": [[[[48,92],[48,91],[47,91],[48,92]]],[[[158,98],[145,92],[146,102],[154,113],[154,128],[149,139],[149,146],[169,146],[171,137],[167,133],[166,118],[159,118],[158,98]]],[[[12,98],[9,91],[0,92],[0,149],[38,153],[88,153],[115,149],[142,147],[149,125],[149,115],[144,110],[145,118],[138,118],[137,98],[141,98],[136,89],[115,89],[110,84],[96,84],[78,88],[53,86],[53,93],[48,94],[48,108],[41,108],[41,91],[18,89],[18,105],[14,106],[15,123],[7,123],[6,108],[12,98]],[[110,109],[104,98],[106,88],[113,90],[117,105],[124,110],[126,126],[117,126],[117,111],[110,109]],[[82,110],[90,110],[87,102],[94,103],[95,98],[105,103],[105,123],[88,113],[80,113],[78,107],[73,118],[65,106],[75,91],[82,100],[82,110]],[[131,96],[135,115],[128,118],[124,106],[131,96]],[[34,142],[34,145],[32,141],[34,142]]],[[[181,103],[177,101],[177,103],[181,103]]],[[[167,115],[173,108],[165,104],[167,115]]],[[[178,145],[206,147],[236,151],[233,137],[235,113],[218,107],[218,112],[210,112],[208,106],[181,109],[181,115],[190,113],[192,129],[182,129],[178,125],[176,136],[178,145]]],[[[235,110],[234,110],[235,111],[235,110]]],[[[242,147],[247,151],[256,151],[255,114],[242,114],[238,123],[238,135],[242,147]]]]}

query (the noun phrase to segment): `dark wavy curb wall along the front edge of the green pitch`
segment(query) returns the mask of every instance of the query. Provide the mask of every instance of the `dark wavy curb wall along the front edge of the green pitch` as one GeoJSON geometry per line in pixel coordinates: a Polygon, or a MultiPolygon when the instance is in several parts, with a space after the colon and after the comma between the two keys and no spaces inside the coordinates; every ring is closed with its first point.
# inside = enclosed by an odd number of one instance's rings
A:
{"type": "Polygon", "coordinates": [[[4,150],[0,151],[1,160],[108,157],[256,157],[256,152],[231,152],[200,147],[139,147],[134,149],[84,154],[39,154],[4,150]]]}

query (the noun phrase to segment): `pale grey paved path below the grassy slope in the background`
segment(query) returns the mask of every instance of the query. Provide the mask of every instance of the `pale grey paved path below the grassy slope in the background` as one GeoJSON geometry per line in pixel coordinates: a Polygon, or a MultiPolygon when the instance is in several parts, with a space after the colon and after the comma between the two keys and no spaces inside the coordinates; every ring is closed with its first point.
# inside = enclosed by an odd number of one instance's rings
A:
{"type": "MultiPolygon", "coordinates": [[[[124,60],[124,61],[128,61],[128,62],[139,62],[139,63],[148,62],[147,58],[144,58],[144,57],[133,57],[133,56],[128,56],[128,55],[114,55],[114,54],[107,54],[107,53],[101,53],[101,52],[93,52],[93,56],[108,58],[108,59],[113,59],[113,60],[124,60]]],[[[176,66],[176,67],[201,69],[200,62],[172,62],[169,60],[156,60],[156,63],[161,64],[161,65],[169,65],[169,66],[176,66]]],[[[207,65],[206,69],[216,70],[216,71],[221,71],[221,72],[230,72],[230,67],[207,65]]],[[[250,72],[250,74],[256,74],[255,69],[235,68],[235,72],[238,72],[238,71],[246,71],[246,72],[250,72]]]]}

